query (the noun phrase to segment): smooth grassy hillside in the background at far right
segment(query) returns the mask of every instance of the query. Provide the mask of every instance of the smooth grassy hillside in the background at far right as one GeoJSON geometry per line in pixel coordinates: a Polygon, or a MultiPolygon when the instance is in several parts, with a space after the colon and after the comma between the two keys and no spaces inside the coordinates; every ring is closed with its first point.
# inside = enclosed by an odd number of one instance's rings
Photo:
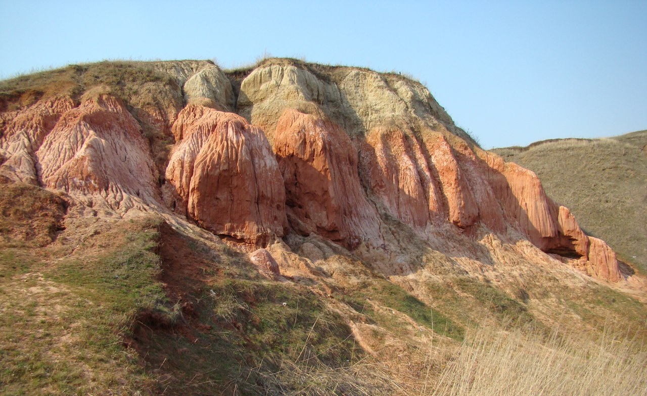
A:
{"type": "Polygon", "coordinates": [[[623,261],[647,269],[647,131],[494,149],[534,171],[550,197],[623,261]]]}

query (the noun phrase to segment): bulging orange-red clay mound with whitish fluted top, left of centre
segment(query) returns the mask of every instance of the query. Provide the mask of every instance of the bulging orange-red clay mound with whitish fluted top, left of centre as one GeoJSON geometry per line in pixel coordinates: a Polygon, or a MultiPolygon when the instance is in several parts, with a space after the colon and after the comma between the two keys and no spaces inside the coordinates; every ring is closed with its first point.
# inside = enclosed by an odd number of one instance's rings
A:
{"type": "Polygon", "coordinates": [[[264,245],[283,235],[285,189],[261,129],[234,113],[188,105],[173,134],[178,143],[166,179],[177,212],[247,243],[264,245]]]}

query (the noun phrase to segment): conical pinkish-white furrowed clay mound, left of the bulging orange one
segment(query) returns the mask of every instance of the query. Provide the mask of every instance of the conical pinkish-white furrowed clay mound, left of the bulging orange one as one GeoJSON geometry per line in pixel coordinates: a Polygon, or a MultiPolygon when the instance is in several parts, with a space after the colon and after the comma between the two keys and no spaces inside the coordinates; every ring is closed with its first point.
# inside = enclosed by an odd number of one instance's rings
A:
{"type": "Polygon", "coordinates": [[[114,96],[85,98],[36,152],[43,186],[125,212],[159,201],[153,160],[137,120],[114,96]]]}

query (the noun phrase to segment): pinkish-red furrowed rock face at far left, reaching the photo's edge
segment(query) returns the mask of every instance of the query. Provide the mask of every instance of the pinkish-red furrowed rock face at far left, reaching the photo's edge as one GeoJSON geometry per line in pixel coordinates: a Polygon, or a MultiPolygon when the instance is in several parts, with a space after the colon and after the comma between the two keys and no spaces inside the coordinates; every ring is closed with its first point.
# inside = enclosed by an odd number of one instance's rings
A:
{"type": "Polygon", "coordinates": [[[108,94],[80,102],[54,96],[5,113],[1,172],[111,210],[159,201],[148,143],[126,106],[108,94]]]}

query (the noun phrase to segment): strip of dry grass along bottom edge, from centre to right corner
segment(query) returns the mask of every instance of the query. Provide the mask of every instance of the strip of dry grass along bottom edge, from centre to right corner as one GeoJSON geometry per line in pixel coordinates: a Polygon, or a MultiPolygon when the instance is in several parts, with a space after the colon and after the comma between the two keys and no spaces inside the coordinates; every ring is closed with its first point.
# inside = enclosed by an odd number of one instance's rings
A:
{"type": "Polygon", "coordinates": [[[609,331],[595,337],[490,323],[470,329],[460,346],[412,346],[404,359],[339,368],[286,360],[257,375],[281,395],[646,395],[644,344],[609,331]]]}

